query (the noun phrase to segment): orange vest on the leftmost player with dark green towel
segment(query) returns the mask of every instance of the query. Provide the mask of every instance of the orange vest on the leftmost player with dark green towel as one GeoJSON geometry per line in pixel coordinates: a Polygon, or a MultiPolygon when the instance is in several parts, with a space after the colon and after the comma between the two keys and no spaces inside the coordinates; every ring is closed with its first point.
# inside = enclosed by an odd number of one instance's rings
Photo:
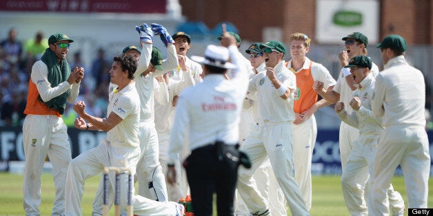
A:
{"type": "Polygon", "coordinates": [[[28,115],[54,115],[57,117],[61,117],[59,111],[48,108],[45,103],[39,101],[39,91],[32,82],[29,80],[28,82],[28,96],[27,96],[27,105],[26,109],[24,109],[24,114],[28,115]]]}

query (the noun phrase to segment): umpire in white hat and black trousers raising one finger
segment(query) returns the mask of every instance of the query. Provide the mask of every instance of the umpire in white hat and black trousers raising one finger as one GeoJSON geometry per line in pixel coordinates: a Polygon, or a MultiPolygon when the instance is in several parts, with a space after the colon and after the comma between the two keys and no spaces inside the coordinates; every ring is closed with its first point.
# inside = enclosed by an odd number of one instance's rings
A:
{"type": "MultiPolygon", "coordinates": [[[[224,28],[223,28],[224,29],[224,28]]],[[[188,134],[191,155],[183,162],[190,184],[194,215],[212,215],[217,193],[218,215],[234,215],[234,191],[241,161],[237,144],[247,72],[239,67],[236,40],[223,30],[221,47],[208,45],[205,56],[192,56],[203,66],[203,83],[181,92],[170,137],[168,182],[177,175],[173,164],[188,134]],[[228,47],[228,48],[226,48],[228,47]],[[232,63],[228,62],[228,59],[232,63]],[[234,69],[234,78],[225,73],[234,69]]]]}

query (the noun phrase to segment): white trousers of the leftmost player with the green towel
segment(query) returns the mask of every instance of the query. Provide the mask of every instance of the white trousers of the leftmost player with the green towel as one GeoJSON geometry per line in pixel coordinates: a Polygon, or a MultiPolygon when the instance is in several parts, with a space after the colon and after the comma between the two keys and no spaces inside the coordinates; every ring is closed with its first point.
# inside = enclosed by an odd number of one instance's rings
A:
{"type": "Polygon", "coordinates": [[[66,172],[72,160],[67,130],[63,119],[57,116],[27,115],[24,119],[23,207],[26,215],[40,215],[41,172],[47,154],[56,188],[52,215],[64,215],[66,172]]]}

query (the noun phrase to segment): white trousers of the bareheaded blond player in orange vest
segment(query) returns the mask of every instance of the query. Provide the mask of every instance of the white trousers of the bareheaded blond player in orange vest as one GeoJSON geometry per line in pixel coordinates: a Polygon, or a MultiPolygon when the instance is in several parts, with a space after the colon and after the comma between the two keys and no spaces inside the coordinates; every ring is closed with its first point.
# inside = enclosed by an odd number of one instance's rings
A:
{"type": "Polygon", "coordinates": [[[317,125],[314,115],[299,125],[293,125],[294,176],[307,210],[310,210],[312,202],[311,163],[316,137],[317,125]]]}

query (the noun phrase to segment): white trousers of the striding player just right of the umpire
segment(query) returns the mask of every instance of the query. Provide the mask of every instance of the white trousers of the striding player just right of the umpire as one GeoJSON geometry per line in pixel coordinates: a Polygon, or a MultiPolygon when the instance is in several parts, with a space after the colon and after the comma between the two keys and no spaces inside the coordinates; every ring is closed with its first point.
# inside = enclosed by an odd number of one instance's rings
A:
{"type": "Polygon", "coordinates": [[[260,123],[241,146],[252,160],[251,169],[239,168],[237,188],[251,213],[269,209],[252,175],[269,158],[276,181],[281,186],[292,215],[310,215],[294,180],[292,162],[292,122],[260,123]]]}

